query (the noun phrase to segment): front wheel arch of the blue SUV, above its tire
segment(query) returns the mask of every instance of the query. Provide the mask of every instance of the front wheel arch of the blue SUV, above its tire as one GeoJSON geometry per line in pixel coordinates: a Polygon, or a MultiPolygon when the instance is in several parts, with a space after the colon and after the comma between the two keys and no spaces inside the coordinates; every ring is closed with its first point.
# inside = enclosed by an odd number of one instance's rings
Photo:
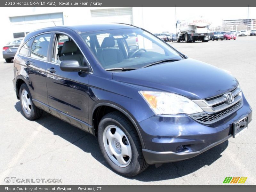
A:
{"type": "Polygon", "coordinates": [[[132,123],[136,132],[138,133],[142,148],[145,148],[142,136],[139,131],[139,124],[136,121],[136,119],[125,108],[123,108],[122,106],[118,105],[117,103],[114,103],[111,101],[106,101],[106,100],[101,101],[100,103],[97,103],[96,105],[94,105],[94,107],[92,108],[92,111],[90,113],[91,116],[89,116],[89,119],[90,119],[90,124],[93,125],[94,134],[97,136],[97,130],[98,130],[98,125],[99,125],[100,119],[104,115],[106,115],[107,113],[110,113],[112,111],[120,112],[132,123]]]}

